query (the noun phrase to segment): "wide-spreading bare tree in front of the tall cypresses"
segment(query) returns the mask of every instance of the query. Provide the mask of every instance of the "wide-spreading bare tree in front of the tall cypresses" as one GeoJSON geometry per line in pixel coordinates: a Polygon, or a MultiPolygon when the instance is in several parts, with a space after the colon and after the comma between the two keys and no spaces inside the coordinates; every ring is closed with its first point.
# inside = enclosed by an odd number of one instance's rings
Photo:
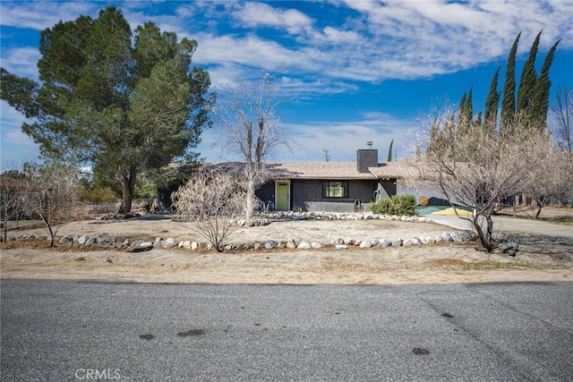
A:
{"type": "Polygon", "coordinates": [[[478,123],[458,120],[445,113],[425,123],[419,134],[418,154],[409,159],[416,179],[439,189],[459,218],[471,223],[485,250],[492,250],[492,214],[498,202],[523,191],[537,165],[529,153],[549,140],[543,129],[526,129],[525,116],[514,118],[512,136],[503,138],[478,123]],[[457,206],[471,208],[471,216],[457,206]]]}

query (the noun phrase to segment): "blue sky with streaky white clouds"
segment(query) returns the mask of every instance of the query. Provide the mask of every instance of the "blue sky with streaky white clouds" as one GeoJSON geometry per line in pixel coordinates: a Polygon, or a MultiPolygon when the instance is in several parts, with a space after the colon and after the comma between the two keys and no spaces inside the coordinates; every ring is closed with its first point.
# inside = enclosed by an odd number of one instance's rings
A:
{"type": "MultiPolygon", "coordinates": [[[[355,150],[373,141],[381,161],[390,140],[406,153],[417,121],[473,88],[483,110],[493,72],[522,32],[517,76],[535,35],[543,30],[537,68],[561,39],[552,65],[552,97],[573,89],[572,0],[330,0],[330,1],[82,1],[0,3],[1,65],[38,80],[40,30],[81,14],[96,18],[119,7],[132,30],[154,21],[161,30],[199,43],[194,64],[210,72],[213,91],[237,78],[277,71],[278,114],[293,152],[273,161],[355,161],[355,150]]],[[[518,78],[518,77],[517,77],[518,78]]],[[[38,156],[21,132],[22,117],[0,105],[0,169],[38,156]]],[[[552,122],[550,121],[550,124],[552,122]]],[[[232,160],[218,146],[220,129],[203,132],[197,149],[208,161],[232,160]]]]}

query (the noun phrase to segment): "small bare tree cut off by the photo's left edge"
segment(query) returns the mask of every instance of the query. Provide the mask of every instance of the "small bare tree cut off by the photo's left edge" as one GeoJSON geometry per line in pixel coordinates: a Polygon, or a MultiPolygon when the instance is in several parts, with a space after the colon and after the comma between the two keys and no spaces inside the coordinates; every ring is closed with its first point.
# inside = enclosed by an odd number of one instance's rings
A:
{"type": "Polygon", "coordinates": [[[26,180],[17,170],[0,174],[0,220],[3,225],[4,242],[8,236],[8,222],[18,219],[26,210],[26,180]]]}

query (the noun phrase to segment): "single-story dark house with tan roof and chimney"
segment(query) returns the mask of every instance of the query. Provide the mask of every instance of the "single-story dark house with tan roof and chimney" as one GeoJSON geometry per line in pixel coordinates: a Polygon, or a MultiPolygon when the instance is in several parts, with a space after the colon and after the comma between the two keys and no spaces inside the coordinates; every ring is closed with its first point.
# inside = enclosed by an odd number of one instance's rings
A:
{"type": "Polygon", "coordinates": [[[379,163],[377,149],[359,149],[356,162],[283,162],[265,165],[269,181],[256,195],[276,210],[352,211],[397,193],[398,168],[379,163]]]}

